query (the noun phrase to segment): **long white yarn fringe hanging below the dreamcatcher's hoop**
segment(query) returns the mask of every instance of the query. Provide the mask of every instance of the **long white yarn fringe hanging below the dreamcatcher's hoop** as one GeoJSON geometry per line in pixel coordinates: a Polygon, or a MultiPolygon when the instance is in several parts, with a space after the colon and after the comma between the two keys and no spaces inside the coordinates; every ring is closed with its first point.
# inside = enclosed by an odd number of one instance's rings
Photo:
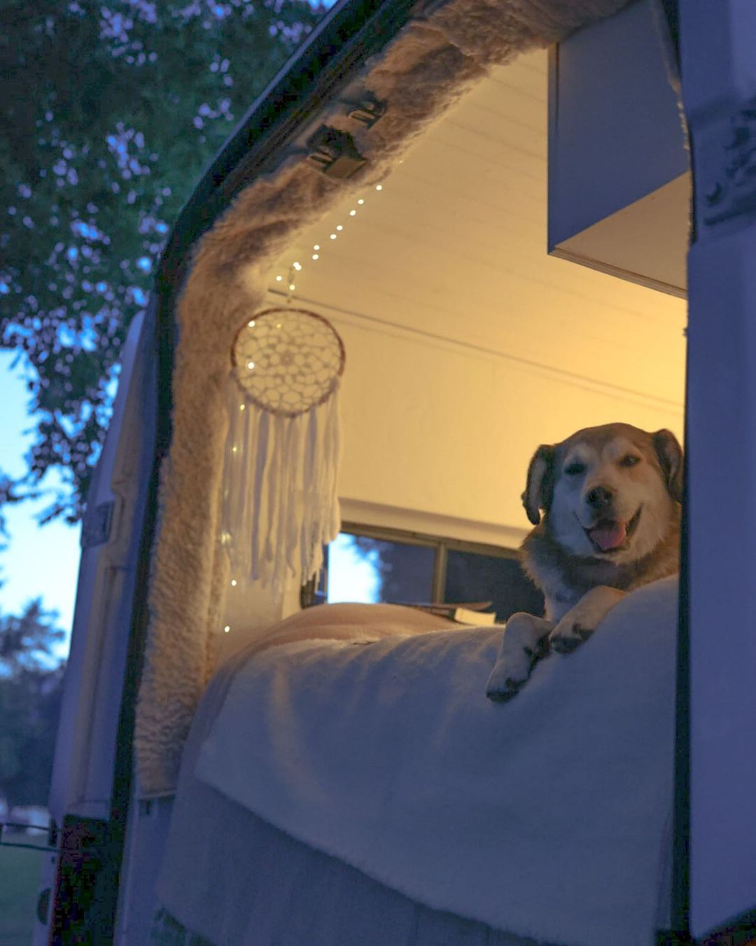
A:
{"type": "Polygon", "coordinates": [[[274,588],[289,573],[304,584],[339,534],[338,389],[325,404],[284,417],[246,401],[233,376],[229,388],[222,530],[232,573],[274,588]]]}

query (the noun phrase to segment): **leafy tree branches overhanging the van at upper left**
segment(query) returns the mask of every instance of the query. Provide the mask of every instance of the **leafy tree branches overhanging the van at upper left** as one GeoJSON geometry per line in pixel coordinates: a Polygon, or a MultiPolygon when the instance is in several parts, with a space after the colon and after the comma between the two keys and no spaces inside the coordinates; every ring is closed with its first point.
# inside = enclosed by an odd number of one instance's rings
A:
{"type": "Polygon", "coordinates": [[[36,442],[0,502],[63,486],[82,511],[120,346],[182,203],[316,22],[304,0],[3,4],[0,346],[19,352],[36,442]]]}

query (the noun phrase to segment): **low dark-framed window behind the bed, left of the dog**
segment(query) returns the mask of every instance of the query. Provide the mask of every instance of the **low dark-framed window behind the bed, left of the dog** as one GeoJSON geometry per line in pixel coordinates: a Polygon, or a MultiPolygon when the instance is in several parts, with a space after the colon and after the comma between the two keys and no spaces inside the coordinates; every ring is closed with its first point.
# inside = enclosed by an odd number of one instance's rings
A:
{"type": "Polygon", "coordinates": [[[317,588],[303,589],[303,605],[326,601],[491,602],[499,621],[543,614],[543,596],[514,550],[356,523],[344,523],[326,548],[317,588]]]}

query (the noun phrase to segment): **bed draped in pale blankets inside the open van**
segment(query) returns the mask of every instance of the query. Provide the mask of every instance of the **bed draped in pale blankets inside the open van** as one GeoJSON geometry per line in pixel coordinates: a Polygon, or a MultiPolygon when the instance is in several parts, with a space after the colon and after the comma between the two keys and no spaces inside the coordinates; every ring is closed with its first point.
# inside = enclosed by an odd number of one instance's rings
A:
{"type": "Polygon", "coordinates": [[[677,581],[512,701],[501,626],[322,605],[228,661],[185,746],[151,943],[642,946],[669,904],[677,581]]]}

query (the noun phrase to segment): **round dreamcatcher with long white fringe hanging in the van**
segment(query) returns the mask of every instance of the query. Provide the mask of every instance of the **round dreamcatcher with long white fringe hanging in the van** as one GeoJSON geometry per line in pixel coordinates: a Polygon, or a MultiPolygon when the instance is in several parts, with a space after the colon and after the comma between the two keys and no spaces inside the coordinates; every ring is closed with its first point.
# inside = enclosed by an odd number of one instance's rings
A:
{"type": "Polygon", "coordinates": [[[223,540],[232,573],[281,587],[308,581],[339,532],[338,392],[343,342],[301,308],[268,308],[232,348],[223,540]]]}

